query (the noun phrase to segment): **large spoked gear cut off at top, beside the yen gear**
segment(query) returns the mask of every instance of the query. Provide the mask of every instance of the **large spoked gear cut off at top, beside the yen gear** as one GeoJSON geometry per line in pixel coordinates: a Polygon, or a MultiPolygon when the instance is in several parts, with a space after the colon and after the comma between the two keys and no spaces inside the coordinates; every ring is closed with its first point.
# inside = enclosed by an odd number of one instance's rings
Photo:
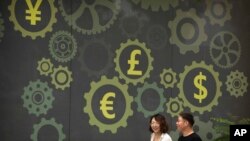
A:
{"type": "Polygon", "coordinates": [[[110,28],[116,20],[120,11],[121,0],[95,0],[95,1],[71,1],[71,4],[65,4],[68,0],[59,0],[59,9],[65,21],[77,32],[82,34],[97,34],[110,28]],[[78,2],[78,3],[76,3],[78,2]],[[66,9],[68,6],[69,9],[66,9]],[[101,8],[103,7],[103,8],[101,8]],[[104,11],[108,9],[112,14],[104,11]],[[71,12],[71,13],[70,13],[71,12]],[[106,13],[105,13],[106,12],[106,13]],[[109,18],[112,16],[111,18],[109,18]],[[89,17],[91,17],[89,19],[89,17]],[[83,19],[82,19],[83,18],[83,19]],[[84,19],[85,18],[85,19],[84,19]],[[79,22],[81,21],[81,22],[79,22]],[[90,21],[90,23],[88,23],[90,21]],[[104,23],[105,22],[105,23],[104,23]],[[81,24],[80,24],[81,23],[81,24]],[[91,24],[90,27],[82,25],[91,24]]]}

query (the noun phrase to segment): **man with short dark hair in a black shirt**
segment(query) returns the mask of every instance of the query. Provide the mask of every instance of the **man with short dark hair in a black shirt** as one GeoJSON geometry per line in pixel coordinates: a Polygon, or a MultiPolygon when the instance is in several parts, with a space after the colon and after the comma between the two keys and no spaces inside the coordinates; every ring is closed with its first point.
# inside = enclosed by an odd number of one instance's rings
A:
{"type": "Polygon", "coordinates": [[[194,117],[190,113],[180,113],[176,122],[177,129],[182,134],[178,141],[202,141],[193,130],[194,117]]]}

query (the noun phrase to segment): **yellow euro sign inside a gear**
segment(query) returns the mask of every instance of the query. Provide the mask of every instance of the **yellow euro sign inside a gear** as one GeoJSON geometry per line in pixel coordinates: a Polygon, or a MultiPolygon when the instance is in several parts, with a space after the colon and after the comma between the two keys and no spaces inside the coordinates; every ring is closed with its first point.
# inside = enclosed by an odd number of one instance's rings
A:
{"type": "Polygon", "coordinates": [[[102,111],[102,114],[104,115],[104,117],[106,117],[108,119],[113,119],[113,118],[115,118],[115,114],[108,113],[108,111],[113,110],[113,107],[112,107],[113,101],[108,101],[109,97],[115,98],[115,93],[108,92],[102,97],[102,100],[100,101],[100,105],[101,105],[100,110],[102,111]]]}

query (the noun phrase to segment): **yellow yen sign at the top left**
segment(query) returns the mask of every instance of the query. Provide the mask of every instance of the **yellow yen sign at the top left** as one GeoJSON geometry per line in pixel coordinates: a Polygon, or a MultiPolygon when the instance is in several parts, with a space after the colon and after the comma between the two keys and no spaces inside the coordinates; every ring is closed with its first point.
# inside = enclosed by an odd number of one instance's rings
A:
{"type": "Polygon", "coordinates": [[[26,0],[26,4],[28,5],[29,10],[26,10],[25,13],[30,15],[25,16],[25,19],[30,20],[31,25],[36,25],[37,21],[41,21],[41,17],[38,17],[39,15],[41,15],[41,11],[38,10],[41,3],[42,0],[37,0],[34,7],[31,3],[31,0],[26,0]]]}

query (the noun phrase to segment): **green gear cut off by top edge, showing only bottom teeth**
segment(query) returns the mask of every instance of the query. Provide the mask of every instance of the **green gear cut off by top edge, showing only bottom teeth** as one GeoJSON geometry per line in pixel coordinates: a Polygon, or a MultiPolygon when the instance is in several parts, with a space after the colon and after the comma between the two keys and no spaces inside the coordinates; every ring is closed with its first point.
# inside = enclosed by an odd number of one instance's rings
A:
{"type": "Polygon", "coordinates": [[[152,11],[168,11],[170,5],[176,7],[178,5],[178,0],[132,0],[135,4],[141,3],[143,9],[151,8],[152,11]]]}

